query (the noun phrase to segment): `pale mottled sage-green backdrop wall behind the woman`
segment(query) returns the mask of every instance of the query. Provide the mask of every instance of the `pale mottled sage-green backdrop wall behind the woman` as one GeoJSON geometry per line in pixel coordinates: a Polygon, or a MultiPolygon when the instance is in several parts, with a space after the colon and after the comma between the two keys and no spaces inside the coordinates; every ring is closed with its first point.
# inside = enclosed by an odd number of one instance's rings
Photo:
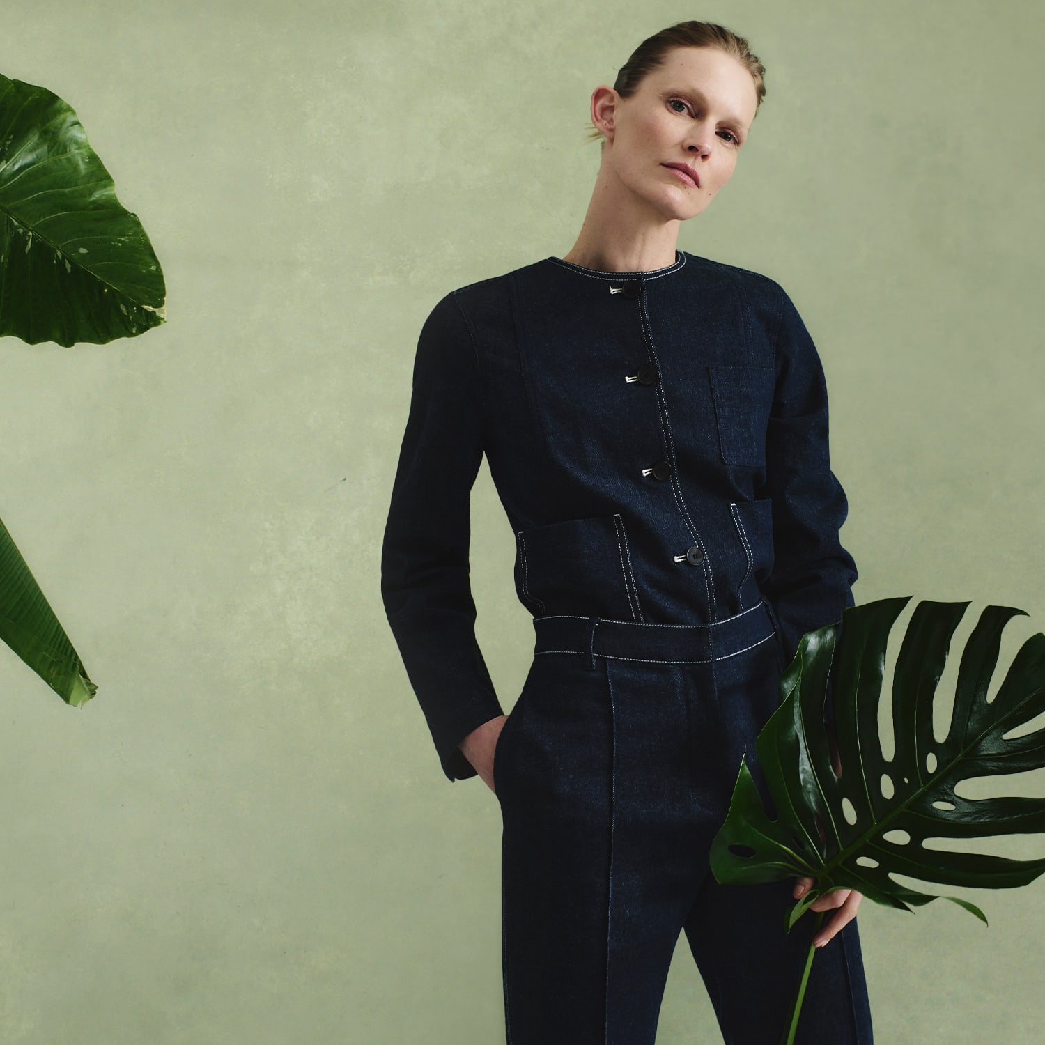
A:
{"type": "MultiPolygon", "coordinates": [[[[777,279],[813,333],[857,600],[1045,622],[1035,5],[3,15],[0,72],[77,110],[152,235],[169,320],[2,345],[0,514],[99,683],[71,711],[0,650],[7,1045],[503,1041],[497,805],[440,771],[380,536],[423,319],[568,251],[590,91],[665,25],[723,22],[767,67],[739,169],[679,246],[777,279]]],[[[485,467],[472,503],[507,709],[532,631],[485,467]]],[[[1041,1040],[1045,883],[963,895],[989,929],[943,902],[861,908],[882,1045],[1041,1040]]],[[[658,1042],[716,1035],[683,942],[658,1042]]]]}

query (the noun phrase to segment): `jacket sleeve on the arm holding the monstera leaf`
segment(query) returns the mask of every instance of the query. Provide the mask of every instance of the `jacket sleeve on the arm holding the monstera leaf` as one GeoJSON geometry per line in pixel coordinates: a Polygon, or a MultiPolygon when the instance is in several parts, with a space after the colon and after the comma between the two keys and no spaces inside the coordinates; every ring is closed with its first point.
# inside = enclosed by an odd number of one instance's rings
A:
{"type": "Polygon", "coordinates": [[[840,621],[853,605],[857,568],[838,536],[849,506],[831,471],[823,368],[794,304],[780,295],[762,494],[772,502],[773,568],[763,594],[790,664],[807,631],[840,621]]]}

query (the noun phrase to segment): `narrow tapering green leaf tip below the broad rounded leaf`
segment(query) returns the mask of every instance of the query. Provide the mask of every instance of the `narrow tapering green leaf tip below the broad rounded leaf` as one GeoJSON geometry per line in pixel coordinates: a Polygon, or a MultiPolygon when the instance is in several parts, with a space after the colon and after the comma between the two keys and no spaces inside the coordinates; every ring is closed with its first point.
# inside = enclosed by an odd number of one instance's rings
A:
{"type": "Polygon", "coordinates": [[[0,638],[69,704],[97,689],[0,522],[0,638]]]}

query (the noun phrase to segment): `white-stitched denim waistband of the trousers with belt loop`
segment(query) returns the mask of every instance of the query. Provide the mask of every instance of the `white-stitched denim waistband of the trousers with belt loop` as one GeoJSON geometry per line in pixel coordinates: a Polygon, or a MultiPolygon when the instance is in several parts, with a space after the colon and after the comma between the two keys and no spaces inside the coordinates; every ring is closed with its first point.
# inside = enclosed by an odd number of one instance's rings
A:
{"type": "Polygon", "coordinates": [[[578,653],[658,664],[711,664],[736,656],[775,634],[764,602],[714,624],[634,624],[599,617],[536,617],[534,655],[578,653]]]}

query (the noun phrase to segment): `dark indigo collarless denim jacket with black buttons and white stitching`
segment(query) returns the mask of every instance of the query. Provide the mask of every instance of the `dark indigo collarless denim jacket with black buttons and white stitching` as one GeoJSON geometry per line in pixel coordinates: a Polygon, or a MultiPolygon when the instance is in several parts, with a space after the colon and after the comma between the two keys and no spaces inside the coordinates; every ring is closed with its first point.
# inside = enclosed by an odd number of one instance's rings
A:
{"type": "Polygon", "coordinates": [[[469,494],[483,454],[535,616],[706,624],[764,599],[784,664],[857,572],[828,399],[794,305],[676,253],[645,273],[559,258],[446,295],[421,330],[381,594],[443,770],[503,714],[475,642],[469,494]]]}

